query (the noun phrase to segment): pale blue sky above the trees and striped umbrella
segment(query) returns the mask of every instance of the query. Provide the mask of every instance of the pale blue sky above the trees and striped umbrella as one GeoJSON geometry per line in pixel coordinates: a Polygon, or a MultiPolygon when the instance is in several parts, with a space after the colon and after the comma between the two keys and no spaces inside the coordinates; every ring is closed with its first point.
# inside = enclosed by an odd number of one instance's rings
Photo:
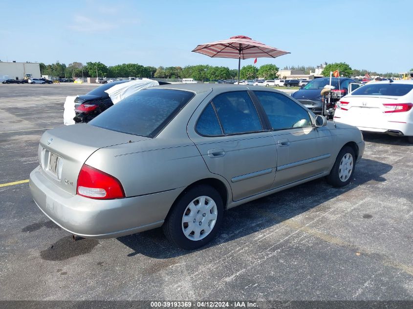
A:
{"type": "Polygon", "coordinates": [[[237,68],[191,50],[245,35],[291,52],[259,66],[404,72],[413,67],[412,12],[413,0],[1,1],[0,60],[237,68]]]}

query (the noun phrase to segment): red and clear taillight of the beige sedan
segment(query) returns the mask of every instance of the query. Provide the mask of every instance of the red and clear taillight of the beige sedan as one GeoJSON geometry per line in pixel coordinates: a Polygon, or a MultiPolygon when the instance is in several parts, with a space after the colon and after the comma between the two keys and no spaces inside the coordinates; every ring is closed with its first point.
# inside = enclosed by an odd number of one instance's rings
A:
{"type": "Polygon", "coordinates": [[[115,177],[84,164],[77,178],[77,194],[98,200],[121,199],[125,191],[115,177]]]}

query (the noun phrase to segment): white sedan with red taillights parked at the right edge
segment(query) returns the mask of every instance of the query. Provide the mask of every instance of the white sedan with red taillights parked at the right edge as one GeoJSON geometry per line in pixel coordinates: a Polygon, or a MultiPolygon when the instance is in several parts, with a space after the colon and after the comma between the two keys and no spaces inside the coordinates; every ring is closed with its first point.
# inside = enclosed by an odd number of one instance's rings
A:
{"type": "Polygon", "coordinates": [[[334,120],[361,131],[407,136],[413,143],[413,81],[361,86],[337,102],[334,120]]]}

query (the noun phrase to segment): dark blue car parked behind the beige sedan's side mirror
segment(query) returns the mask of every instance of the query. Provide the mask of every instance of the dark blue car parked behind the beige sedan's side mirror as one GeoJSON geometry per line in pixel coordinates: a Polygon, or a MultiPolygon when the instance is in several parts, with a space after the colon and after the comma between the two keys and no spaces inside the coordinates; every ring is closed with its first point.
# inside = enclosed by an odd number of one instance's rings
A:
{"type": "MultiPolygon", "coordinates": [[[[287,82],[287,81],[286,81],[287,82]]],[[[354,80],[350,78],[337,78],[331,79],[331,85],[334,86],[332,90],[336,93],[337,97],[343,97],[348,93],[348,85],[354,80]]],[[[330,84],[330,78],[317,78],[307,83],[300,90],[291,94],[291,97],[300,101],[305,107],[311,110],[315,114],[321,114],[323,110],[323,97],[321,96],[321,90],[324,86],[330,84]]],[[[326,106],[325,109],[333,108],[333,106],[326,106]]]]}

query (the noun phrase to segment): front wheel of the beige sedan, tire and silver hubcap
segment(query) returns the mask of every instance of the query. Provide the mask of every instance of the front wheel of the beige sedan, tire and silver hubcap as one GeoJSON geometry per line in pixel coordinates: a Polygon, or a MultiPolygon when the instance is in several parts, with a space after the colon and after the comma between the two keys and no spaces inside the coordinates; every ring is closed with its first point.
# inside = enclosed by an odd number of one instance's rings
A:
{"type": "Polygon", "coordinates": [[[355,165],[356,156],[353,148],[350,146],[343,147],[337,155],[330,174],[326,177],[327,183],[334,187],[348,185],[354,173],[355,165]]]}

